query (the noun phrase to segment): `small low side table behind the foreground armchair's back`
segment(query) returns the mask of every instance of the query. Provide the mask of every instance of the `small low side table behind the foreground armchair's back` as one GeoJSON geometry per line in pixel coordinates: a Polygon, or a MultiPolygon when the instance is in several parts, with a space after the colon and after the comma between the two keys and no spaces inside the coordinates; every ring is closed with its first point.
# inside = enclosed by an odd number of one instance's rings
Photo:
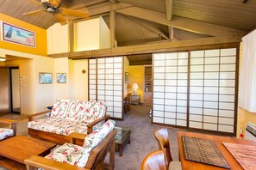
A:
{"type": "Polygon", "coordinates": [[[117,133],[115,137],[115,142],[117,149],[119,151],[119,156],[122,157],[122,149],[126,143],[131,143],[130,134],[131,131],[127,128],[115,127],[117,133]]]}

